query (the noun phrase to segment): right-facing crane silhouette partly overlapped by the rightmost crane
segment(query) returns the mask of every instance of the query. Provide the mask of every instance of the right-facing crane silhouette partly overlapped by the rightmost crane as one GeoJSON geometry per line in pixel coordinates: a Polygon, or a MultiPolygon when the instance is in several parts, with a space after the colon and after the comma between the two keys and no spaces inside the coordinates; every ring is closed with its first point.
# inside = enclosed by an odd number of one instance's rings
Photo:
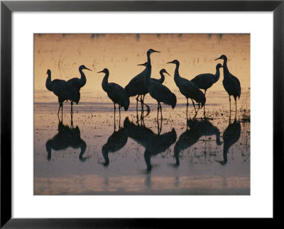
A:
{"type": "MultiPolygon", "coordinates": [[[[216,83],[219,80],[220,67],[223,66],[221,64],[216,65],[215,74],[211,73],[199,74],[191,80],[191,82],[194,82],[198,86],[198,88],[204,89],[204,96],[206,96],[207,89],[209,89],[214,83],[216,83]]],[[[204,104],[204,115],[205,115],[205,104],[204,104]]]]}

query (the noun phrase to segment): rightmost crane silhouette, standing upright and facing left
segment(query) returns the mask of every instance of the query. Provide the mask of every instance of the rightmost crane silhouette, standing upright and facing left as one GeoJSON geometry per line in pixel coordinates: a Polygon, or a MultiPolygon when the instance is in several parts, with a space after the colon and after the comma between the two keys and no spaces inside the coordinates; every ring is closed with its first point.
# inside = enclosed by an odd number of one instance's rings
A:
{"type": "Polygon", "coordinates": [[[229,94],[229,101],[230,101],[230,117],[231,117],[231,96],[234,96],[235,99],[235,105],[236,105],[236,97],[241,96],[241,84],[239,82],[239,79],[236,78],[234,75],[232,75],[229,72],[228,67],[226,66],[227,58],[225,55],[222,55],[221,57],[215,59],[224,60],[223,63],[223,72],[224,72],[224,79],[223,79],[223,86],[226,92],[229,94]]]}

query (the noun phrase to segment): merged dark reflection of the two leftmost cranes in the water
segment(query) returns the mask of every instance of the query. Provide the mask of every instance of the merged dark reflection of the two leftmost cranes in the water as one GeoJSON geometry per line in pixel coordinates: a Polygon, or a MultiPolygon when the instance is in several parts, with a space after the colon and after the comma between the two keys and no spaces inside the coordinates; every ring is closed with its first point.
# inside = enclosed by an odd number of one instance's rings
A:
{"type": "Polygon", "coordinates": [[[84,162],[88,157],[83,157],[86,151],[87,145],[81,138],[80,128],[76,126],[74,128],[72,115],[71,125],[63,125],[63,121],[59,120],[58,133],[50,140],[45,143],[46,152],[48,153],[48,160],[51,160],[51,151],[66,150],[68,147],[73,149],[80,148],[79,160],[84,162]]]}

